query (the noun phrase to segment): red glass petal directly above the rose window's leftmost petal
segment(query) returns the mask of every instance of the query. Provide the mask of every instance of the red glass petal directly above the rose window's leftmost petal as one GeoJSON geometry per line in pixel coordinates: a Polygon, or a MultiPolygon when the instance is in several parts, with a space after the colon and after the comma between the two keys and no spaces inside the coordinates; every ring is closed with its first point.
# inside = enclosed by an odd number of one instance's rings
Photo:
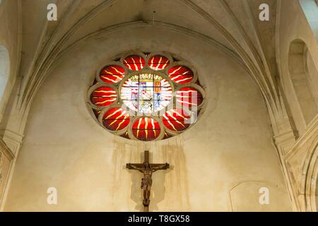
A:
{"type": "Polygon", "coordinates": [[[125,76],[125,69],[121,66],[107,66],[100,71],[100,79],[105,83],[119,83],[125,76]]]}

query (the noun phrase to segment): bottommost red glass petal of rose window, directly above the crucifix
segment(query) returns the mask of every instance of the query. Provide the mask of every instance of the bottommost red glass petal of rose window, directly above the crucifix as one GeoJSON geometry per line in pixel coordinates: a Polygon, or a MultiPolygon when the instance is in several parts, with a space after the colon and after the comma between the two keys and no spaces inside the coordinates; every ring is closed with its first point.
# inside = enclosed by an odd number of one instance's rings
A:
{"type": "Polygon", "coordinates": [[[132,132],[140,141],[153,141],[160,135],[160,125],[158,121],[150,117],[137,119],[133,126],[132,132]]]}

